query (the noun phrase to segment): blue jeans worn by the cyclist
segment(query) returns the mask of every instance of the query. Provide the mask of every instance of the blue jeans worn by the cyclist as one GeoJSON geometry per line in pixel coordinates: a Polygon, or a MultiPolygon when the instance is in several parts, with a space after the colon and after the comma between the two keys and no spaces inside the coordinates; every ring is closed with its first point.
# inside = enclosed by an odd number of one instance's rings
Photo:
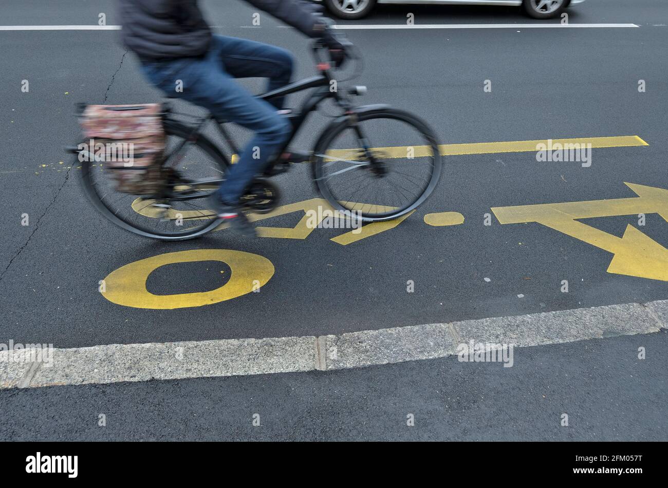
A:
{"type": "Polygon", "coordinates": [[[182,98],[255,132],[255,136],[230,167],[218,190],[227,204],[239,198],[267,163],[277,156],[291,133],[289,121],[276,113],[284,99],[255,98],[234,78],[267,77],[268,89],[290,82],[293,57],[289,51],[236,37],[214,35],[204,57],[143,61],[144,75],[170,97],[182,98]],[[178,81],[180,80],[180,81],[178,81]],[[182,91],[176,91],[182,83],[182,91]]]}

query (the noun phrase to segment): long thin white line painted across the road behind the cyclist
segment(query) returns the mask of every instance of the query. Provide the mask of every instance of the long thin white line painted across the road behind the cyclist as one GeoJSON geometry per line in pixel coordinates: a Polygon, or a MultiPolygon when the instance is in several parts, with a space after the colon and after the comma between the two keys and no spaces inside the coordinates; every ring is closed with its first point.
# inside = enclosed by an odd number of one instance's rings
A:
{"type": "MultiPolygon", "coordinates": [[[[232,27],[213,25],[212,27],[232,27]]],[[[240,25],[239,27],[256,27],[251,25],[240,25]]],[[[277,27],[285,27],[279,25],[277,27]]],[[[335,29],[566,29],[566,28],[588,29],[594,27],[640,27],[636,24],[345,24],[335,25],[335,29]]],[[[118,31],[120,25],[0,25],[0,31],[118,31]]]]}

